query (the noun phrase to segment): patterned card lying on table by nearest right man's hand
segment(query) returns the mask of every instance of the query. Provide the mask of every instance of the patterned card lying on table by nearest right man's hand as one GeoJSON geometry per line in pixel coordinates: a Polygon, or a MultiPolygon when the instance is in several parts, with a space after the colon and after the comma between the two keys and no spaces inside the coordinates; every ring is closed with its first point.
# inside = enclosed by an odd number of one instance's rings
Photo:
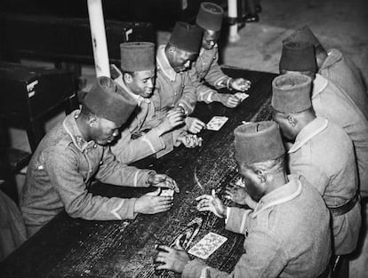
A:
{"type": "Polygon", "coordinates": [[[204,235],[203,239],[201,239],[190,250],[188,250],[188,253],[198,258],[207,259],[227,240],[228,238],[225,236],[210,232],[204,235]]]}

